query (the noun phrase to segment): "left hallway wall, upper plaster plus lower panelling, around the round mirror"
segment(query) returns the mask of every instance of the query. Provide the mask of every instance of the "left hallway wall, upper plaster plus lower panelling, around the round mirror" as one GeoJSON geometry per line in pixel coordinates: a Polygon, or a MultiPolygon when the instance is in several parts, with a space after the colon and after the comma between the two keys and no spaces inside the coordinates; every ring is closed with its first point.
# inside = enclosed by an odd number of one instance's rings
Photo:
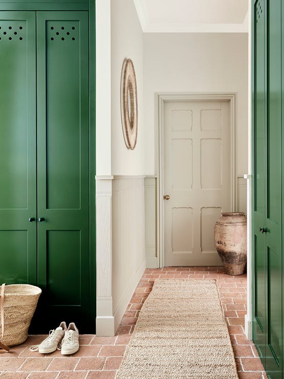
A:
{"type": "Polygon", "coordinates": [[[112,309],[115,330],[146,268],[144,218],[144,51],[133,0],[111,0],[111,173],[112,309]],[[120,107],[121,70],[134,64],[138,95],[138,137],[126,148],[120,107]]]}

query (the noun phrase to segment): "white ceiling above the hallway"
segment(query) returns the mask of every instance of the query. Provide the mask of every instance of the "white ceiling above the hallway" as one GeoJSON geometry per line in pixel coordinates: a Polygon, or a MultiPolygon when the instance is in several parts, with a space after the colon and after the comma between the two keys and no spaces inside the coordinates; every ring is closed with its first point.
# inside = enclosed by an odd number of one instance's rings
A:
{"type": "Polygon", "coordinates": [[[247,33],[249,0],[133,0],[145,33],[247,33]]]}

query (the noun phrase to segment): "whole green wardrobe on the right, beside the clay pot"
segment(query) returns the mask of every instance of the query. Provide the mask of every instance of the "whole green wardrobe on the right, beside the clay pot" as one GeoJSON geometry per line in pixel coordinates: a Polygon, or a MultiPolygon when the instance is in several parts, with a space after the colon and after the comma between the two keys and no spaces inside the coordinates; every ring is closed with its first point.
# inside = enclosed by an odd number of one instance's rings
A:
{"type": "Polygon", "coordinates": [[[253,341],[272,379],[283,377],[283,31],[284,1],[252,1],[253,341]]]}

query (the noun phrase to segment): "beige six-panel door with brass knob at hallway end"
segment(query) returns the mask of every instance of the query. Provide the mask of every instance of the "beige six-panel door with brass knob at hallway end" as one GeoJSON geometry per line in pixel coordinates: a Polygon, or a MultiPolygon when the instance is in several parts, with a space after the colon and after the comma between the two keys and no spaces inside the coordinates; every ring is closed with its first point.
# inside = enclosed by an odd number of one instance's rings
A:
{"type": "Polygon", "coordinates": [[[164,103],[166,266],[221,264],[214,225],[231,211],[230,130],[229,101],[164,103]]]}

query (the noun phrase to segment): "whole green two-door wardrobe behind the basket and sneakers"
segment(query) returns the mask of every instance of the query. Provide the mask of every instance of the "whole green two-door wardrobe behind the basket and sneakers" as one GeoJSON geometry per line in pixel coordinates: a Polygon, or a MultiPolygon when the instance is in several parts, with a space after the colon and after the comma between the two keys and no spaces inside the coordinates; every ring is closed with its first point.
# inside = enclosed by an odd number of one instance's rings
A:
{"type": "Polygon", "coordinates": [[[0,0],[0,284],[42,288],[35,332],[95,332],[93,8],[0,0]]]}

